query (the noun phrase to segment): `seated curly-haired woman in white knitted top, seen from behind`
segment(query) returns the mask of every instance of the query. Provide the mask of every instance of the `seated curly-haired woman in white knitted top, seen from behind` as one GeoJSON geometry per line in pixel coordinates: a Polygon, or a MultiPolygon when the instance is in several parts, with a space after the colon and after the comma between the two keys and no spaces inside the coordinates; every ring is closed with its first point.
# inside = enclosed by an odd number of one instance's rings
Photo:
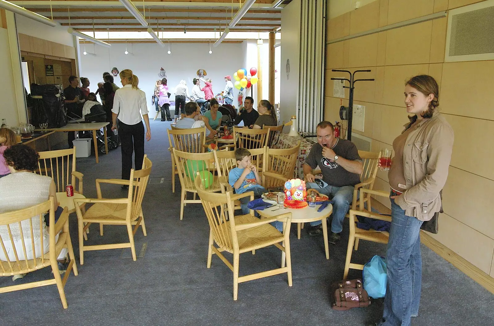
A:
{"type": "MultiPolygon", "coordinates": [[[[29,146],[13,145],[3,152],[5,163],[7,164],[10,174],[0,179],[0,213],[19,210],[44,203],[49,196],[56,198],[55,182],[52,178],[34,173],[38,167],[39,155],[29,146]]],[[[58,203],[56,203],[58,206],[58,203]]],[[[61,210],[57,209],[58,214],[55,214],[55,221],[60,216],[61,210]]],[[[40,217],[33,216],[31,218],[33,224],[33,236],[35,244],[36,258],[41,257],[41,229],[43,231],[43,254],[49,249],[49,229],[43,222],[40,225],[40,217]]],[[[25,239],[26,254],[24,257],[21,239],[21,230],[18,223],[9,225],[14,244],[9,239],[9,233],[5,225],[0,226],[0,237],[5,245],[7,256],[10,261],[15,260],[14,247],[17,248],[19,260],[34,259],[33,257],[33,242],[31,241],[30,232],[25,230],[30,229],[30,220],[21,222],[23,237],[25,239]]],[[[55,238],[55,241],[57,238],[55,238]]],[[[58,259],[59,269],[63,273],[66,270],[67,249],[64,248],[60,252],[58,259]]],[[[6,261],[5,253],[0,250],[0,260],[6,261]]],[[[22,278],[22,275],[15,275],[12,280],[22,278]]]]}

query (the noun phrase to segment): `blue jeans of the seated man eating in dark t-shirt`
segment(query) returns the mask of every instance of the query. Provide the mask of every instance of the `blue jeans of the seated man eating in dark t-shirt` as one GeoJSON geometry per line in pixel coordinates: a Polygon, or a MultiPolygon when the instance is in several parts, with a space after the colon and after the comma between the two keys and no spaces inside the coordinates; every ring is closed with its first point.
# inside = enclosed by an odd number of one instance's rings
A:
{"type": "MultiPolygon", "coordinates": [[[[331,222],[331,232],[340,233],[343,231],[343,220],[345,219],[348,209],[352,204],[354,186],[334,187],[326,186],[318,189],[319,193],[332,196],[333,201],[333,220],[331,222]]],[[[311,226],[321,224],[321,221],[310,222],[311,226]]]]}

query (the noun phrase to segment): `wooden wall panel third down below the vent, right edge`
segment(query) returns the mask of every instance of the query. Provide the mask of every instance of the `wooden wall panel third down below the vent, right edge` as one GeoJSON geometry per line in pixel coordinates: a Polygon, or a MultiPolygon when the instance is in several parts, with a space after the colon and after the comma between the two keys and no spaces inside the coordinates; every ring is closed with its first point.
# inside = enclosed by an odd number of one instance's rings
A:
{"type": "Polygon", "coordinates": [[[485,194],[494,194],[493,180],[450,166],[443,189],[444,212],[494,239],[492,198],[485,194]]]}

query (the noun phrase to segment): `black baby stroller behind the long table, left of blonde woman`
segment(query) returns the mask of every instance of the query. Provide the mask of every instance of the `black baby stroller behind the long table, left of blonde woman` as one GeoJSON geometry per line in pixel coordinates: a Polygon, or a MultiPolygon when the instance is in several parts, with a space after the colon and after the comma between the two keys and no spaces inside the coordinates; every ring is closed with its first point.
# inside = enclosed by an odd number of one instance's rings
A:
{"type": "MultiPolygon", "coordinates": [[[[72,113],[71,116],[67,115],[69,123],[87,123],[87,122],[106,122],[106,111],[99,102],[86,101],[84,108],[82,109],[82,117],[78,117],[72,113]]],[[[106,128],[106,126],[105,126],[106,128]]],[[[92,131],[84,132],[82,138],[92,138],[92,131]]],[[[101,130],[96,130],[96,142],[97,148],[95,151],[99,151],[102,154],[106,153],[105,148],[105,136],[101,130]]],[[[114,150],[119,147],[118,140],[113,140],[112,137],[107,137],[108,150],[114,150]]]]}

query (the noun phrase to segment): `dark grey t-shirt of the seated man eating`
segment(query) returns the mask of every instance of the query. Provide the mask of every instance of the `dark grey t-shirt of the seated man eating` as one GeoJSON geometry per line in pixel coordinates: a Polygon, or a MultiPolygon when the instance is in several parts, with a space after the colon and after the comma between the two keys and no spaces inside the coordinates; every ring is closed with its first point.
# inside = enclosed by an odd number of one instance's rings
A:
{"type": "MultiPolygon", "coordinates": [[[[339,157],[350,161],[362,162],[357,147],[349,140],[338,138],[332,150],[339,157]]],[[[328,185],[335,187],[355,186],[360,182],[358,174],[345,170],[333,159],[323,157],[322,152],[323,147],[319,144],[314,144],[305,160],[305,164],[312,168],[316,168],[319,165],[323,172],[323,180],[328,185]]]]}

